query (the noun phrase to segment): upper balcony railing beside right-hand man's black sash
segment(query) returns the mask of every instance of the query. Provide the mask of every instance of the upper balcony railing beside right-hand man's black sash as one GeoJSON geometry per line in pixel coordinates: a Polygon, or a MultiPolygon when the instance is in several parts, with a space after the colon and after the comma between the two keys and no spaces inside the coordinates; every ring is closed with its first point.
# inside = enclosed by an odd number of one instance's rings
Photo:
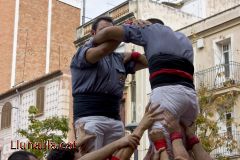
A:
{"type": "Polygon", "coordinates": [[[230,61],[194,74],[196,89],[204,85],[208,89],[218,89],[230,85],[240,84],[240,63],[230,61]]]}

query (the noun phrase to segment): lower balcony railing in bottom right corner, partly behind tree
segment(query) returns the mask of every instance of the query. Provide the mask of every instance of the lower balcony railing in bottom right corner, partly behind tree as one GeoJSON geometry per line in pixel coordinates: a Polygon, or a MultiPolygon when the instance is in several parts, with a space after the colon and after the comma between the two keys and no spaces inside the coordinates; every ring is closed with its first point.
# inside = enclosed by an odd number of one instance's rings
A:
{"type": "MultiPolygon", "coordinates": [[[[226,135],[227,133],[222,133],[224,135],[226,135]]],[[[236,147],[233,150],[230,150],[227,145],[231,145],[231,144],[227,144],[219,147],[215,150],[213,150],[211,152],[212,157],[216,158],[216,157],[220,157],[220,156],[224,156],[224,157],[232,157],[232,158],[236,158],[236,157],[240,157],[240,132],[232,132],[231,133],[231,138],[236,141],[236,147]]]]}

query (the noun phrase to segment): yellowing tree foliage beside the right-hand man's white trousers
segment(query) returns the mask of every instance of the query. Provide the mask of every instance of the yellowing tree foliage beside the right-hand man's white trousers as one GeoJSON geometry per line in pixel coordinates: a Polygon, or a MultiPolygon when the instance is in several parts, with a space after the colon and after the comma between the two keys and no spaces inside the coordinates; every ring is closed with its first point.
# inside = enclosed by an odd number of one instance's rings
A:
{"type": "MultiPolygon", "coordinates": [[[[210,153],[219,147],[224,147],[228,152],[237,149],[237,141],[232,136],[232,133],[228,131],[220,133],[221,126],[219,123],[239,126],[239,124],[235,124],[232,117],[226,119],[226,113],[232,112],[238,95],[239,93],[236,91],[216,94],[216,91],[210,91],[204,85],[198,90],[200,114],[196,120],[197,134],[207,152],[210,153]]],[[[217,158],[221,160],[228,159],[224,155],[219,155],[217,158]]]]}

